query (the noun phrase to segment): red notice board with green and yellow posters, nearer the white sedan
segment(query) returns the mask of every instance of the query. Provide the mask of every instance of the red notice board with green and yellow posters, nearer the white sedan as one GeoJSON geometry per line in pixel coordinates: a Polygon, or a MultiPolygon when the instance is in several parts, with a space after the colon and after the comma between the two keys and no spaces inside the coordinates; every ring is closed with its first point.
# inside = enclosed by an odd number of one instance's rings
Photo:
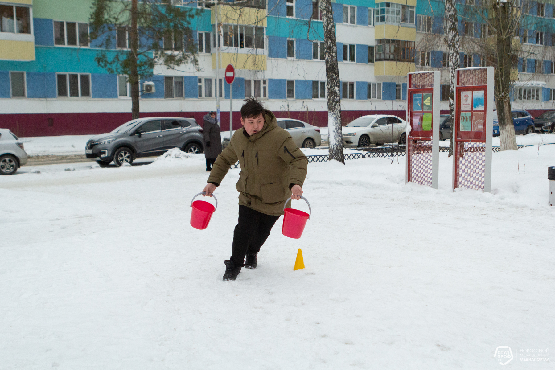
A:
{"type": "Polygon", "coordinates": [[[407,74],[405,180],[438,189],[440,163],[439,71],[407,74]]]}

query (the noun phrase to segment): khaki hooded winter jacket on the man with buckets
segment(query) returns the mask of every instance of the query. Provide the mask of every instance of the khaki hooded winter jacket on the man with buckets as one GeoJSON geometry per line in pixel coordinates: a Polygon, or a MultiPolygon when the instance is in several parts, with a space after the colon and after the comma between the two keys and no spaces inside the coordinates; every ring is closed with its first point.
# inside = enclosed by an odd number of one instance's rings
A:
{"type": "Polygon", "coordinates": [[[216,158],[208,183],[220,185],[230,166],[239,160],[241,172],[235,185],[239,204],[278,216],[291,196],[291,184],[302,186],[308,160],[291,135],[278,126],[274,113],[265,110],[264,118],[263,129],[250,137],[244,128],[235,131],[216,158]]]}

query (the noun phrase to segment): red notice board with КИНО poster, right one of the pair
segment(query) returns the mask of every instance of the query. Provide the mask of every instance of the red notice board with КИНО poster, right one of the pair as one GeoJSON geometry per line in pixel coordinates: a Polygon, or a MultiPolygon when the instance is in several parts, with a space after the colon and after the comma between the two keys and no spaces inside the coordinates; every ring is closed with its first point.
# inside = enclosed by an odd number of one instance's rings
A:
{"type": "Polygon", "coordinates": [[[491,191],[493,73],[493,67],[456,70],[453,191],[491,191]]]}

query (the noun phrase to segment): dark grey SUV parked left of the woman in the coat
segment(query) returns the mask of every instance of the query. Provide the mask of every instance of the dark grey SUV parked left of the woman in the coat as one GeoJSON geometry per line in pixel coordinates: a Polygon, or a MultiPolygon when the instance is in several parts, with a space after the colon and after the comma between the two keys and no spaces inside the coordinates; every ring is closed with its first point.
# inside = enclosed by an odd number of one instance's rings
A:
{"type": "Polygon", "coordinates": [[[194,118],[148,117],[128,121],[87,141],[85,155],[99,165],[118,167],[135,158],[163,154],[171,148],[203,153],[203,129],[194,118]]]}

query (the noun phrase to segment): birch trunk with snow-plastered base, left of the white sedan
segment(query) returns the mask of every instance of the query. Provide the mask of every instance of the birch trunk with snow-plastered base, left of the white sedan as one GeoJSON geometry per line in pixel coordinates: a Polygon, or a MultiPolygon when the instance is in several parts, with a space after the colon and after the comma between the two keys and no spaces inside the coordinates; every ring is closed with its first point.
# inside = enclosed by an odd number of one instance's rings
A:
{"type": "Polygon", "coordinates": [[[337,64],[337,44],[335,42],[334,12],[331,0],[320,0],[322,23],[324,23],[324,43],[326,47],[327,85],[327,141],[329,160],[345,164],[343,156],[343,135],[341,130],[341,102],[339,99],[339,65],[337,64]]]}

